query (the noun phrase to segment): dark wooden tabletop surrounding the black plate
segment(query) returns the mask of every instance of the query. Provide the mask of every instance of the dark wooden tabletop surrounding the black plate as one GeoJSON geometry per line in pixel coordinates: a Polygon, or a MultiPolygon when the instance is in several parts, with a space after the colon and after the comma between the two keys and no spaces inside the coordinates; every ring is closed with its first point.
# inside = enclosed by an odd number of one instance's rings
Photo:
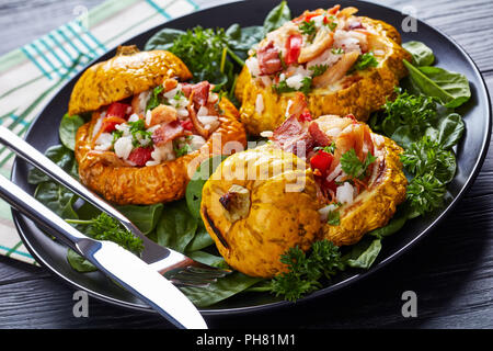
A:
{"type": "MultiPolygon", "coordinates": [[[[90,8],[100,2],[3,0],[0,54],[69,21],[76,5],[90,8]],[[47,18],[43,13],[53,15],[47,18]]],[[[412,5],[420,19],[454,37],[472,56],[493,91],[491,0],[381,2],[399,10],[412,5]]],[[[492,177],[490,150],[474,185],[447,220],[417,247],[368,280],[314,303],[232,320],[210,318],[209,325],[221,328],[492,328],[492,177]],[[402,316],[404,291],[416,293],[417,317],[402,316]]],[[[89,318],[76,318],[73,292],[45,269],[0,257],[0,328],[170,327],[152,314],[117,308],[94,298],[89,301],[89,318]]]]}

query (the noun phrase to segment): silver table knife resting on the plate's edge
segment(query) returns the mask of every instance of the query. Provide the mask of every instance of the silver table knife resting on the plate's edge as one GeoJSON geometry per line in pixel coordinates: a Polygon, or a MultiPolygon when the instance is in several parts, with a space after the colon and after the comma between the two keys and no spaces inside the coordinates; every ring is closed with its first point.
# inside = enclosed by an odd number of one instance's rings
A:
{"type": "Polygon", "coordinates": [[[89,238],[2,176],[0,197],[46,228],[50,235],[83,256],[101,272],[147,303],[177,328],[207,328],[192,302],[134,253],[112,241],[89,238]]]}

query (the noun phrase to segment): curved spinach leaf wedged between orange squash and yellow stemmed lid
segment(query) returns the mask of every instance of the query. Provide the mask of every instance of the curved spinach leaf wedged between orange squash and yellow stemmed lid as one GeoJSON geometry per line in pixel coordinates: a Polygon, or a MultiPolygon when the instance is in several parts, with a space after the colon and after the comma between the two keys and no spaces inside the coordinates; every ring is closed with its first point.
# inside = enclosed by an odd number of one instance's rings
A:
{"type": "Polygon", "coordinates": [[[216,155],[205,160],[195,171],[185,191],[186,205],[190,213],[195,218],[200,218],[202,189],[205,182],[214,173],[216,168],[227,158],[227,156],[216,155]]]}

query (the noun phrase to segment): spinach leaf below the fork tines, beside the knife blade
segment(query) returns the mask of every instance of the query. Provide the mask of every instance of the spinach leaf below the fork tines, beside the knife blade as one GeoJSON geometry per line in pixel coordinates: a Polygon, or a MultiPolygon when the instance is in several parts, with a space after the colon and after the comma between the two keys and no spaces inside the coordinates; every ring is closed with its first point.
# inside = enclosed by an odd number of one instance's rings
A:
{"type": "Polygon", "coordinates": [[[180,287],[180,290],[195,306],[207,307],[241,293],[262,280],[262,278],[248,276],[240,272],[233,272],[225,278],[218,279],[216,283],[210,284],[207,288],[180,287]]]}

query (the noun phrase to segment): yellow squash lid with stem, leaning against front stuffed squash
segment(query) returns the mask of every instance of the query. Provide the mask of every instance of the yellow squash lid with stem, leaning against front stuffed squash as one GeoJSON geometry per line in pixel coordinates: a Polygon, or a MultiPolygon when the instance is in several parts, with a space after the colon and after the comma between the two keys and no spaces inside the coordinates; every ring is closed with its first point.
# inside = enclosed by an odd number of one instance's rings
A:
{"type": "Polygon", "coordinates": [[[303,160],[262,146],[228,157],[204,185],[200,215],[226,262],[252,276],[286,270],[279,256],[320,235],[317,186],[303,160]]]}

